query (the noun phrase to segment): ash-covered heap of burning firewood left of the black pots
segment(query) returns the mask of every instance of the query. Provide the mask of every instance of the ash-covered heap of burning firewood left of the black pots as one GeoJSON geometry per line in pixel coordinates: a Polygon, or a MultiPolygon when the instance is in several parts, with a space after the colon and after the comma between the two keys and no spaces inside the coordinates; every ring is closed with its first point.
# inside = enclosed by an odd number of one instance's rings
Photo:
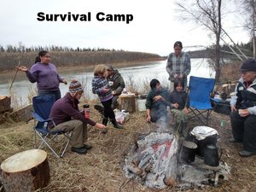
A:
{"type": "Polygon", "coordinates": [[[136,154],[125,160],[129,177],[145,182],[150,188],[175,186],[178,140],[177,136],[159,132],[152,132],[137,140],[136,154]]]}

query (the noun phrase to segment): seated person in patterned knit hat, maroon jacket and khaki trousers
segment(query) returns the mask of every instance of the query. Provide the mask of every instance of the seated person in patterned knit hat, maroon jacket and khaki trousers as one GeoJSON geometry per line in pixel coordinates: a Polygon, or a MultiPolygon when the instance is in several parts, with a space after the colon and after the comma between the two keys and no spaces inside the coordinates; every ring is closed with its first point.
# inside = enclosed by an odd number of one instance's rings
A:
{"type": "Polygon", "coordinates": [[[49,124],[50,131],[73,131],[71,137],[71,150],[79,154],[86,154],[92,148],[85,144],[87,140],[87,124],[97,128],[105,128],[105,125],[94,122],[84,117],[79,111],[79,99],[83,95],[82,85],[73,80],[69,85],[69,92],[66,96],[57,100],[51,108],[49,117],[55,122],[55,126],[49,124]]]}

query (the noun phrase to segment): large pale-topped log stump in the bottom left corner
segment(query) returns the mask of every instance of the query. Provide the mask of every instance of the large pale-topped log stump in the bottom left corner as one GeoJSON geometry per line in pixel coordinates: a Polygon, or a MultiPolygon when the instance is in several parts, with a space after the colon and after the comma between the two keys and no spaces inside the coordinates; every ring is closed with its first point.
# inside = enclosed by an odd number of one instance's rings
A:
{"type": "Polygon", "coordinates": [[[47,153],[41,149],[20,152],[3,160],[1,180],[5,192],[29,192],[49,183],[47,153]]]}

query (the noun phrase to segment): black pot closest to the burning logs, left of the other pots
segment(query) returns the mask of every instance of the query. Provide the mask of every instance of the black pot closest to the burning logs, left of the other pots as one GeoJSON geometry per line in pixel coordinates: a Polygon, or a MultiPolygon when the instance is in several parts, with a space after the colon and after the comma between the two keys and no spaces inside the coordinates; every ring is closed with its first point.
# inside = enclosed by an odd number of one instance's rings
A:
{"type": "Polygon", "coordinates": [[[191,163],[195,160],[197,145],[193,142],[184,141],[181,149],[181,162],[191,163]]]}

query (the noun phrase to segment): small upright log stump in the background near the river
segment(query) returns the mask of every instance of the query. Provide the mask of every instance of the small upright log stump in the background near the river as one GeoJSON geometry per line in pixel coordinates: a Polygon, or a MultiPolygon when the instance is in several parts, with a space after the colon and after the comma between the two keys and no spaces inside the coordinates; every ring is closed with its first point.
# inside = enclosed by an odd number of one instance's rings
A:
{"type": "Polygon", "coordinates": [[[129,113],[136,111],[135,94],[122,94],[119,96],[119,110],[125,109],[129,113]]]}

